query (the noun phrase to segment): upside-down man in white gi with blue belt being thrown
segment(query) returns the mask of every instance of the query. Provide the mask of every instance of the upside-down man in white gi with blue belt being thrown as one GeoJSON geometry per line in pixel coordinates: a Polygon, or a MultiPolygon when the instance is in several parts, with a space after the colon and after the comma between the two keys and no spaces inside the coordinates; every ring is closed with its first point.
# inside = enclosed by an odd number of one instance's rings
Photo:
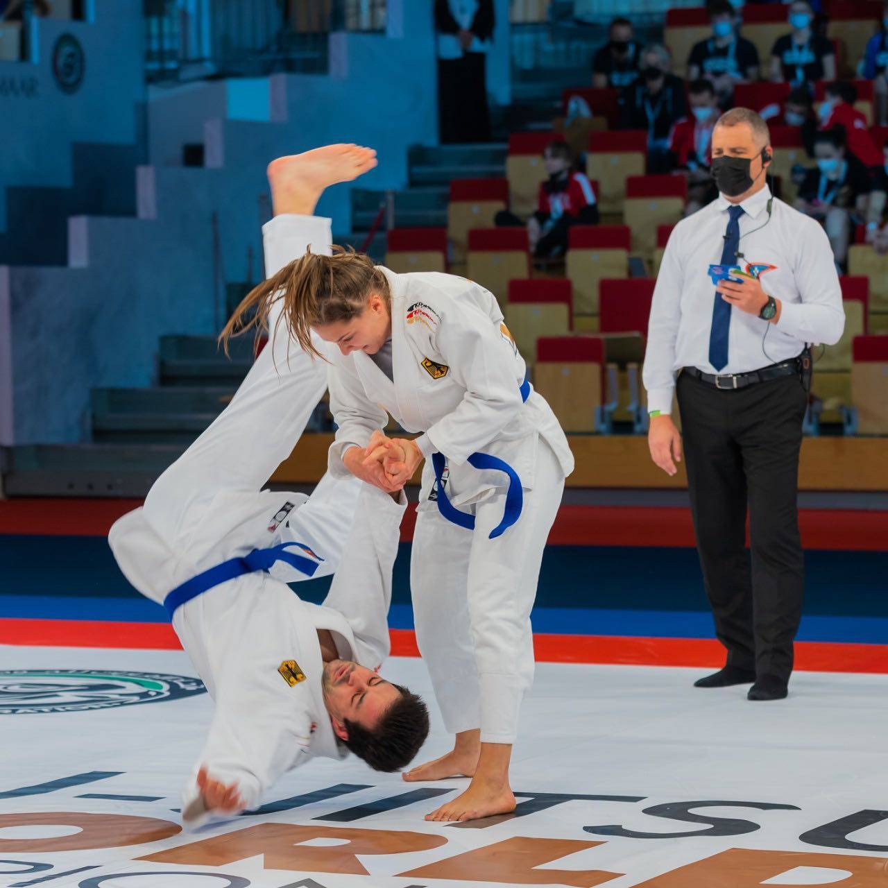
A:
{"type": "MultiPolygon", "coordinates": [[[[309,244],[329,250],[329,219],[311,216],[315,203],[324,187],[375,166],[374,155],[330,146],[272,164],[270,273],[309,244]]],[[[167,608],[216,703],[184,793],[190,826],[255,807],[310,757],[341,758],[347,748],[397,770],[428,731],[422,702],[377,675],[389,651],[403,494],[395,502],[329,476],[310,499],[261,490],[327,384],[326,365],[274,314],[267,320],[271,340],[231,404],[109,535],[123,573],[167,608]],[[334,571],[321,607],[285,584],[334,571]]]]}

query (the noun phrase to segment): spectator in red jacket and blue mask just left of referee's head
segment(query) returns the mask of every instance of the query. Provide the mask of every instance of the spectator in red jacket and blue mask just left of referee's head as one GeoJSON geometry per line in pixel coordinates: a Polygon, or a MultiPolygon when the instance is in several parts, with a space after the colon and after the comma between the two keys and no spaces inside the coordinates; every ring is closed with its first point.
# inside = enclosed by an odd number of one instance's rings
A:
{"type": "Polygon", "coordinates": [[[718,196],[712,182],[710,144],[718,120],[718,99],[709,80],[694,80],[688,87],[691,115],[672,128],[670,151],[674,168],[686,170],[687,203],[685,215],[690,216],[718,196]]]}

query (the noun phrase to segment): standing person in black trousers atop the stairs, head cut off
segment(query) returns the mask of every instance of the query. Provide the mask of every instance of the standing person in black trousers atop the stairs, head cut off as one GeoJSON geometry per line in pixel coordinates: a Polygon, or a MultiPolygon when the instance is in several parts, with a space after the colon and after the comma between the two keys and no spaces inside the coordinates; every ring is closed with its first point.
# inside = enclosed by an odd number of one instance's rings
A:
{"type": "Polygon", "coordinates": [[[441,142],[490,140],[487,53],[493,0],[435,0],[441,142]]]}

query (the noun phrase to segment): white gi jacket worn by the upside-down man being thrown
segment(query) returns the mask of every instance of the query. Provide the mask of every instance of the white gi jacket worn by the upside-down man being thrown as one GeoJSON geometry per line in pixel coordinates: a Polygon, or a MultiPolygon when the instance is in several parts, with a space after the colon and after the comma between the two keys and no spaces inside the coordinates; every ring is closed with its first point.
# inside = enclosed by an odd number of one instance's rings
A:
{"type": "MultiPolygon", "coordinates": [[[[202,556],[171,548],[145,509],[119,519],[108,541],[127,579],[160,602],[179,583],[257,546],[300,543],[292,551],[323,564],[322,535],[316,530],[324,515],[303,495],[266,493],[264,508],[248,502],[239,511],[236,498],[229,496],[226,511],[207,515],[202,533],[221,542],[202,556]]],[[[320,487],[313,496],[319,494],[326,506],[320,487]]],[[[332,632],[342,659],[369,669],[385,660],[392,565],[407,506],[401,498],[395,503],[381,490],[361,485],[345,551],[322,606],[301,601],[282,581],[305,579],[305,574],[278,562],[270,575],[242,575],[176,610],[178,638],[216,703],[207,741],[183,793],[188,825],[207,819],[202,805],[194,804],[201,765],[215,779],[236,783],[250,809],[282,773],[310,757],[345,756],[324,705],[317,630],[332,632]]]]}

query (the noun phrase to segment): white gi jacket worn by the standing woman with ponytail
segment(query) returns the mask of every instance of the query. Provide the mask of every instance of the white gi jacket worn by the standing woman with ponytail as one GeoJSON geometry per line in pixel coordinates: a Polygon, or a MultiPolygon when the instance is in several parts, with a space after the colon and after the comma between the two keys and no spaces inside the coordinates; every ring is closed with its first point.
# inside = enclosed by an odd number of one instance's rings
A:
{"type": "MultiPolygon", "coordinates": [[[[392,291],[394,381],[365,353],[330,358],[337,371],[330,374],[330,409],[339,426],[329,451],[330,474],[347,476],[345,450],[366,447],[370,434],[385,426],[385,411],[408,432],[425,432],[429,452],[447,457],[454,506],[477,502],[508,483],[503,472],[466,464],[476,452],[510,464],[530,490],[542,436],[565,475],[573,472],[574,457],[549,404],[536,392],[522,402],[527,367],[496,297],[452,274],[379,270],[392,291]]],[[[427,460],[421,511],[430,507],[433,485],[427,460]]]]}

